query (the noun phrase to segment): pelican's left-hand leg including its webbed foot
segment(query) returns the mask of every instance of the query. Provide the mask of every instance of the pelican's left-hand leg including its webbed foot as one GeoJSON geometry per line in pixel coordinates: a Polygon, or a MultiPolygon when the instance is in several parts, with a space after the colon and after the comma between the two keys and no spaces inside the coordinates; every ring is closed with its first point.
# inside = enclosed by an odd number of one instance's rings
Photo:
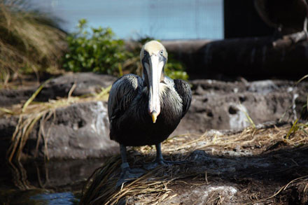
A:
{"type": "Polygon", "coordinates": [[[126,146],[123,144],[120,144],[120,155],[122,158],[121,174],[116,184],[116,188],[121,186],[123,183],[127,181],[132,181],[135,178],[139,178],[139,176],[144,174],[144,170],[142,169],[138,169],[138,168],[130,169],[130,164],[128,164],[127,162],[126,146]]]}

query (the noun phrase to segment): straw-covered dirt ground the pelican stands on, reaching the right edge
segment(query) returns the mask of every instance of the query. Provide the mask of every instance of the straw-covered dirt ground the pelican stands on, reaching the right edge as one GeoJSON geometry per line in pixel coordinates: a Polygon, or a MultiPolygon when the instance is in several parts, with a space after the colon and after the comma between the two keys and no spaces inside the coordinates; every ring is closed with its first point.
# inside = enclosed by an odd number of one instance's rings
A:
{"type": "MultiPolygon", "coordinates": [[[[176,136],[163,143],[164,157],[186,164],[157,167],[118,189],[120,157],[113,157],[92,176],[81,203],[307,204],[308,129],[290,129],[176,136]]],[[[130,157],[131,167],[142,167],[155,148],[134,148],[130,157]]]]}

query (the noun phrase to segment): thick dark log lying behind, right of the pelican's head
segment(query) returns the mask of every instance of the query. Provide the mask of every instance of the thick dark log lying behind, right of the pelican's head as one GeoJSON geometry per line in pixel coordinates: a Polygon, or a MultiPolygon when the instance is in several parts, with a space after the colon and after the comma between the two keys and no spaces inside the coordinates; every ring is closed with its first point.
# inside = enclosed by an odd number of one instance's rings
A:
{"type": "Polygon", "coordinates": [[[308,73],[308,41],[293,43],[292,39],[289,35],[275,41],[272,36],[265,36],[192,41],[177,46],[163,43],[186,64],[188,74],[193,77],[298,79],[308,73]]]}

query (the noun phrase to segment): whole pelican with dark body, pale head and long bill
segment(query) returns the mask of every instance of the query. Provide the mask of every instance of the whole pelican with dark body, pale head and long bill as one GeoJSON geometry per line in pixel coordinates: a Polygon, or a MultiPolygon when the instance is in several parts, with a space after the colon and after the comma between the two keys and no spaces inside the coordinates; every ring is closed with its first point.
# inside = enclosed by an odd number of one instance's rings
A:
{"type": "Polygon", "coordinates": [[[108,100],[110,138],[120,144],[121,178],[141,176],[130,169],[126,146],[155,145],[155,163],[172,163],[163,159],[161,143],[187,113],[192,92],[186,81],[165,76],[167,56],[162,43],[149,41],[140,52],[142,77],[127,74],[111,87],[108,100]]]}

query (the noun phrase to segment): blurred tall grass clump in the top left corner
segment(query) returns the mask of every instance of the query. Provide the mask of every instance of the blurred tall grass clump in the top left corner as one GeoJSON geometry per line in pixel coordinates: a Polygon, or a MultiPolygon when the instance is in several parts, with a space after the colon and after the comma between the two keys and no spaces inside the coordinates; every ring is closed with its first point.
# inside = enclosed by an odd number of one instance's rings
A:
{"type": "Polygon", "coordinates": [[[58,68],[66,42],[59,20],[30,10],[25,0],[0,0],[0,82],[58,68]]]}

